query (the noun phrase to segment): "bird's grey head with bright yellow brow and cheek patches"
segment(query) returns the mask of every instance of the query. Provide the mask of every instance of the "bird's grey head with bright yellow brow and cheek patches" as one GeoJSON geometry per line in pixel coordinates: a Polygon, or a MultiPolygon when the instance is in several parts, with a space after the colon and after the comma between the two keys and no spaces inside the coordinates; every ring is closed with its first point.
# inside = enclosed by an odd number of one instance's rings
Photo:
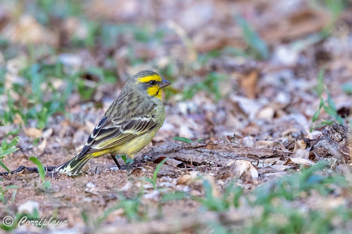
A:
{"type": "Polygon", "coordinates": [[[137,86],[140,91],[146,92],[147,95],[161,99],[161,89],[171,85],[165,79],[162,79],[156,72],[150,70],[140,71],[133,75],[129,80],[130,85],[137,86]]]}

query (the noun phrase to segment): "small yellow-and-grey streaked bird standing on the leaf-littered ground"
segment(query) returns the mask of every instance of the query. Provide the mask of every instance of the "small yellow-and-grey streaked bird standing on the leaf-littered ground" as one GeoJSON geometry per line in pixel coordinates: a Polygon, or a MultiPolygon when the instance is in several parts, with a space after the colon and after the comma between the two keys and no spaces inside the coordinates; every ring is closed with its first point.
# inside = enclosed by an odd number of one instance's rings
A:
{"type": "Polygon", "coordinates": [[[161,88],[170,84],[149,70],[133,75],[89,135],[81,153],[58,166],[55,172],[77,175],[90,159],[105,154],[110,154],[118,166],[115,155],[133,159],[163,126],[161,88]]]}

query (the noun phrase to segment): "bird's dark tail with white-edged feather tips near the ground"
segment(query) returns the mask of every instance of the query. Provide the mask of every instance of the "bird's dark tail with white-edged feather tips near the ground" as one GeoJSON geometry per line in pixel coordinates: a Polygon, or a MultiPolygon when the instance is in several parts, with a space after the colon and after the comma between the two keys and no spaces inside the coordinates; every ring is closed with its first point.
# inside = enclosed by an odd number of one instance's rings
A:
{"type": "Polygon", "coordinates": [[[86,165],[86,163],[93,158],[92,154],[88,154],[85,155],[83,158],[80,157],[78,158],[77,155],[75,158],[65,162],[64,164],[58,166],[55,169],[55,172],[58,173],[63,173],[63,174],[67,174],[67,175],[78,175],[81,171],[81,169],[83,168],[84,165],[86,165]]]}

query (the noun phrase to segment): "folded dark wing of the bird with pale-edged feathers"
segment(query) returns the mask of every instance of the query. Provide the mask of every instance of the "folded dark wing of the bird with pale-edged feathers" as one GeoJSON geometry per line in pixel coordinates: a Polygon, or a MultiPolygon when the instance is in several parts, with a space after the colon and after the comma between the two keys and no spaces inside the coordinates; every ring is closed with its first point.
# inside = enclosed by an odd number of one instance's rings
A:
{"type": "Polygon", "coordinates": [[[78,158],[130,141],[156,126],[157,122],[153,114],[129,120],[108,120],[104,117],[89,135],[78,158]]]}

